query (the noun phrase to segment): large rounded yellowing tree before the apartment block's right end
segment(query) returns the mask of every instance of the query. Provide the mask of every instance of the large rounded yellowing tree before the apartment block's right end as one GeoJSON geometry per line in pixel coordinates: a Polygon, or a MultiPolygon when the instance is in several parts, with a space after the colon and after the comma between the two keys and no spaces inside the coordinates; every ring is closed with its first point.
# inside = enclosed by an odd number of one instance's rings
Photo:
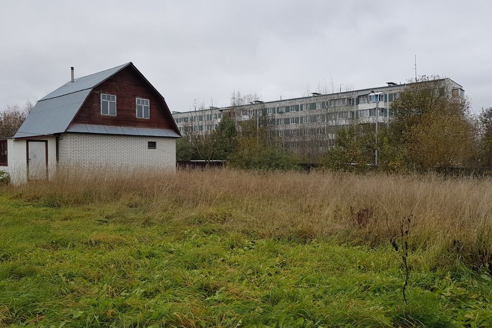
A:
{"type": "Polygon", "coordinates": [[[474,145],[469,101],[458,97],[449,80],[422,76],[392,104],[389,125],[407,165],[421,170],[465,165],[474,145]]]}

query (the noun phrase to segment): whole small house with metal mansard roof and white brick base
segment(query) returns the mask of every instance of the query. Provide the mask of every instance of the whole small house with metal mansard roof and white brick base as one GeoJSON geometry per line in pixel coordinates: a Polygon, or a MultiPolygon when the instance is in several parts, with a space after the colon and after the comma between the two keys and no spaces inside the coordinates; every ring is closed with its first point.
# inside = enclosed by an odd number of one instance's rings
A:
{"type": "Polygon", "coordinates": [[[72,78],[39,99],[2,142],[12,183],[51,179],[60,168],[175,172],[181,137],[166,100],[133,63],[72,78]]]}

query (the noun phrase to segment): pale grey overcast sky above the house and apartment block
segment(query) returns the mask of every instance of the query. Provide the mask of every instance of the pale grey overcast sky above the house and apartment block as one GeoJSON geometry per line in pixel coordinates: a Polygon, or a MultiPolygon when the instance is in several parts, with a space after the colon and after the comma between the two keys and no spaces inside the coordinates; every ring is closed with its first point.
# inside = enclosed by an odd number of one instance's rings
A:
{"type": "Polygon", "coordinates": [[[461,84],[492,106],[492,1],[5,1],[0,109],[75,76],[133,61],[172,111],[226,106],[333,80],[342,91],[417,73],[461,84]]]}

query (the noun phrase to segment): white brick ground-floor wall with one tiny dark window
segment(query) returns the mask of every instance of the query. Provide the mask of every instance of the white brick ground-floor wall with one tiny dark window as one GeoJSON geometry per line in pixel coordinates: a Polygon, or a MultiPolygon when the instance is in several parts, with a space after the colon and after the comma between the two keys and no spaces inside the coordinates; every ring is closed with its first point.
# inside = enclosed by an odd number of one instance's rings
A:
{"type": "Polygon", "coordinates": [[[94,169],[112,172],[176,170],[176,141],[166,137],[64,133],[58,141],[60,168],[94,169]],[[156,149],[148,149],[156,141],[156,149]]]}

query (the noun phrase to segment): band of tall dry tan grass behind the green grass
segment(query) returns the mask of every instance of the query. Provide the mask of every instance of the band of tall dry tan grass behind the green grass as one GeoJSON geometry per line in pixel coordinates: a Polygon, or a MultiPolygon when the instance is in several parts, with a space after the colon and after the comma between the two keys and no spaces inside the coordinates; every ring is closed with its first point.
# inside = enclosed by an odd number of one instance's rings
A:
{"type": "Polygon", "coordinates": [[[414,249],[438,245],[472,265],[492,262],[490,179],[228,169],[74,175],[10,189],[53,206],[112,203],[122,219],[130,208],[147,223],[213,223],[261,237],[337,236],[371,245],[398,235],[402,217],[413,215],[414,249]]]}

